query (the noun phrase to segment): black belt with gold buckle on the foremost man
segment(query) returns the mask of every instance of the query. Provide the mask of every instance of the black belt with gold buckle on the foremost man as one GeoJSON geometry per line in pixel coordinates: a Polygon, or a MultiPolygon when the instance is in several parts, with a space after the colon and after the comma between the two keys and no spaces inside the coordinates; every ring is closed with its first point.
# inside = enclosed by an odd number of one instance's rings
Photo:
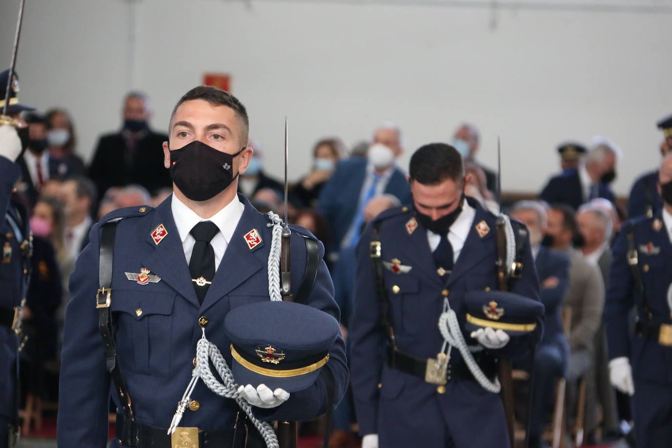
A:
{"type": "MultiPolygon", "coordinates": [[[[241,425],[242,427],[243,425],[241,425]]],[[[168,435],[167,429],[155,428],[149,424],[138,423],[131,420],[126,414],[117,413],[116,437],[119,443],[134,448],[173,448],[191,447],[198,448],[243,448],[245,446],[265,446],[261,435],[250,425],[247,429],[241,428],[239,434],[236,429],[222,429],[218,431],[202,431],[196,428],[178,427],[175,434],[168,435]],[[191,430],[191,431],[190,431],[191,430]],[[246,440],[247,439],[247,440],[246,440]],[[254,439],[254,443],[251,443],[254,439]],[[261,445],[257,439],[261,440],[261,445]],[[174,440],[174,441],[173,441],[174,440]],[[179,445],[179,441],[185,445],[179,445]],[[189,442],[188,444],[186,442],[189,442]],[[246,445],[247,443],[247,445],[246,445]]]]}

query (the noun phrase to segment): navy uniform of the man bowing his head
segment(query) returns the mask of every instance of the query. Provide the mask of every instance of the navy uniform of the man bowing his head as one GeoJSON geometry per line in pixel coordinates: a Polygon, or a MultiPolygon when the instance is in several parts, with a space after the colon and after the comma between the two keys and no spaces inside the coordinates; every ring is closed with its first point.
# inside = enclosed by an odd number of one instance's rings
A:
{"type": "MultiPolygon", "coordinates": [[[[435,358],[444,342],[437,328],[444,298],[448,297],[460,328],[464,328],[464,294],[497,289],[496,218],[475,199],[466,200],[475,209],[475,217],[450,274],[435,266],[427,230],[407,207],[380,214],[359,242],[350,326],[352,388],[360,433],[378,434],[381,448],[509,446],[501,398],[473,379],[457,376],[464,363],[455,349],[450,359],[454,378],[445,386],[437,387],[422,377],[393,369],[386,361],[388,341],[381,324],[376,275],[370,258],[374,226],[379,226],[380,259],[386,263],[388,315],[398,350],[418,359],[435,358]]],[[[514,228],[519,225],[513,223],[514,228]]],[[[529,244],[522,263],[522,277],[511,291],[538,301],[539,281],[529,244]]],[[[502,349],[486,350],[485,356],[526,353],[540,338],[542,321],[542,317],[536,320],[534,332],[511,337],[502,349]]],[[[468,332],[463,334],[468,344],[475,343],[468,332]]]]}

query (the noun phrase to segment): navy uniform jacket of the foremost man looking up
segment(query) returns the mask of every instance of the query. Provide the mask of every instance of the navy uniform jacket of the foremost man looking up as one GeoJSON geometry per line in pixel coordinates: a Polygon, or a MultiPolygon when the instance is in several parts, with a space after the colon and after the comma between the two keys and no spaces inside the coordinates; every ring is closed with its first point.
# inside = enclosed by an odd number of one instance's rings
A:
{"type": "MultiPolygon", "coordinates": [[[[203,303],[199,304],[185,261],[182,242],[173,220],[171,197],[157,208],[126,208],[112,212],[101,224],[122,218],[116,228],[112,268],[112,303],[116,319],[117,360],[128,386],[136,421],[167,428],[175,404],[192,377],[192,359],[202,336],[199,320],[206,318],[208,340],[219,347],[230,365],[230,341],[224,317],[233,308],[269,300],[267,263],[271,247],[269,220],[242,195],[243,215],[228,243],[203,303]],[[158,229],[158,232],[157,232],[158,229]],[[250,233],[256,230],[255,233],[250,233]],[[159,281],[144,284],[129,280],[126,273],[149,269],[159,281]]],[[[71,277],[71,301],[65,319],[60,373],[58,444],[64,447],[106,447],[110,375],[97,329],[95,297],[99,287],[101,227],[91,229],[91,242],[77,260],[71,277]]],[[[292,289],[302,282],[306,267],[304,238],[314,238],[292,226],[292,289]]],[[[333,285],[319,244],[317,279],[307,304],[338,318],[333,285]]],[[[137,276],[136,276],[137,277],[137,276]]],[[[139,279],[139,277],[137,277],[139,279]]],[[[155,277],[152,277],[156,280],[155,277]]],[[[329,349],[327,369],[333,374],[335,396],[347,385],[345,347],[340,336],[329,349]]],[[[277,408],[253,408],[260,420],[304,420],[327,407],[321,377],[305,390],[291,394],[277,408]]],[[[118,408],[120,400],[113,395],[118,408]]],[[[192,392],[199,406],[186,410],[181,425],[206,431],[232,429],[238,406],[211,392],[199,382],[192,392]],[[193,408],[193,409],[192,409],[193,408]]],[[[165,432],[164,432],[165,433],[165,432]]],[[[119,446],[118,441],[114,446],[119,446]]]]}

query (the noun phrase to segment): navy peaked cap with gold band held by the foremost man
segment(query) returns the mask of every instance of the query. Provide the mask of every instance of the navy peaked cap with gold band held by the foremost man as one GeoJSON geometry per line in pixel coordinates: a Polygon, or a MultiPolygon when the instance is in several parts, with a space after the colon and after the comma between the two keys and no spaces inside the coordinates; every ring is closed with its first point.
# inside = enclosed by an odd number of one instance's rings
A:
{"type": "Polygon", "coordinates": [[[237,384],[287,392],[314,383],[341,328],[333,316],[293,302],[239,306],[224,318],[237,384]],[[250,325],[250,322],[253,322],[250,325]]]}

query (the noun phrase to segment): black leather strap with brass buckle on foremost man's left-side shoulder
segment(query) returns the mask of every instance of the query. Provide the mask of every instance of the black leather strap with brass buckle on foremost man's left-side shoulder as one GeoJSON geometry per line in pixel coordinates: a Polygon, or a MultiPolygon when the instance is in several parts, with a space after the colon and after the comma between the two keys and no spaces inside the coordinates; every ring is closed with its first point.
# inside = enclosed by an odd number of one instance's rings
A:
{"type": "MultiPolygon", "coordinates": [[[[118,221],[106,222],[102,226],[99,249],[98,284],[96,295],[96,308],[98,310],[98,331],[103,338],[103,351],[105,353],[106,368],[112,376],[114,390],[116,390],[122,409],[130,419],[135,415],[128,395],[128,388],[117,363],[117,350],[114,339],[114,325],[112,323],[112,265],[114,262],[114,234],[118,221]]],[[[119,437],[125,444],[130,443],[130,434],[119,437]]]]}

